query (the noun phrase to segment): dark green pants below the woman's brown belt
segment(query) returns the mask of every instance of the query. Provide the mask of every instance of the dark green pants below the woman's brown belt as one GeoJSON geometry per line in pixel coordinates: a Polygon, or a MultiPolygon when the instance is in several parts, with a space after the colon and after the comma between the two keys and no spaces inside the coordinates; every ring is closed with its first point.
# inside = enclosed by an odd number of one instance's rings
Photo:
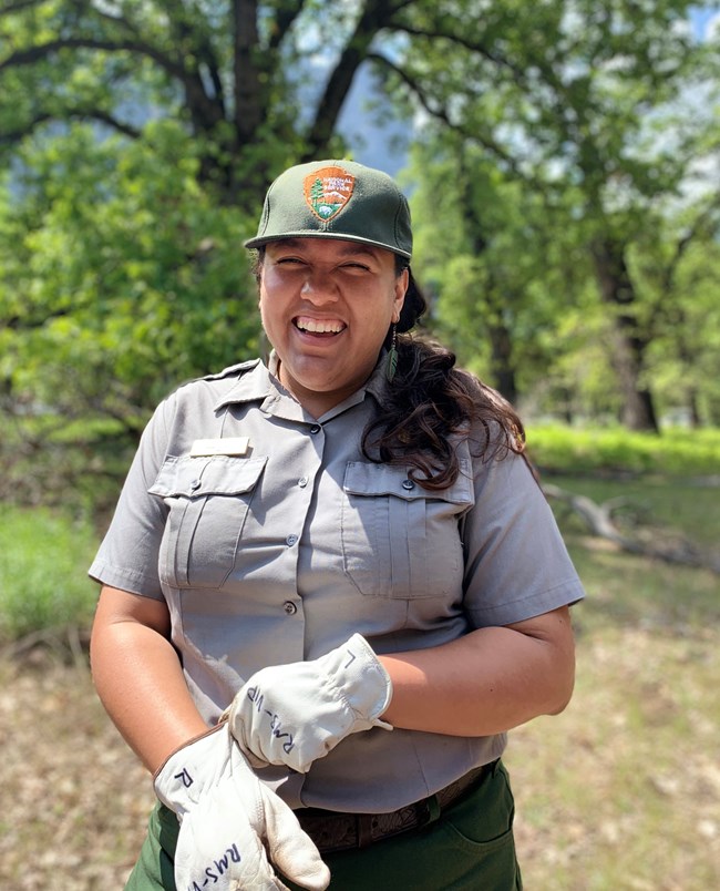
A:
{"type": "MultiPolygon", "coordinates": [[[[520,891],[513,795],[498,761],[482,784],[422,829],[323,854],[331,891],[520,891]]],[[[175,891],[175,815],[158,805],[125,891],[175,891]]],[[[286,883],[291,889],[297,885],[286,883]]]]}

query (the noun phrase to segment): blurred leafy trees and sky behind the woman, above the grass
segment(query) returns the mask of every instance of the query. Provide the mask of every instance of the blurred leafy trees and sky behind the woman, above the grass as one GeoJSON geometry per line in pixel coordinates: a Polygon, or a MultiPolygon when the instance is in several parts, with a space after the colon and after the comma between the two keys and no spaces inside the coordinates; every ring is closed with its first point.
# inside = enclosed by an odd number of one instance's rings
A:
{"type": "Polygon", "coordinates": [[[7,490],[64,500],[72,479],[95,498],[160,398],[257,354],[241,240],[268,182],[322,156],[402,166],[426,326],[526,417],[717,424],[711,13],[6,0],[7,490]],[[394,144],[379,153],[383,123],[394,144]]]}

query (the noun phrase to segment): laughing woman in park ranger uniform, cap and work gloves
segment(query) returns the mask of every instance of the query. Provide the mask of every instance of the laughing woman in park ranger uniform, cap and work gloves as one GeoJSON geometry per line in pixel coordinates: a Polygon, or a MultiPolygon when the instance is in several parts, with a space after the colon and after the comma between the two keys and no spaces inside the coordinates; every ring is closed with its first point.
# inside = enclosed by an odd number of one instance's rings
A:
{"type": "Polygon", "coordinates": [[[505,734],[569,700],[583,596],[521,422],[405,334],[385,174],[291,167],[247,246],[269,367],[161,404],[91,567],[160,799],[127,888],[521,888],[505,734]]]}

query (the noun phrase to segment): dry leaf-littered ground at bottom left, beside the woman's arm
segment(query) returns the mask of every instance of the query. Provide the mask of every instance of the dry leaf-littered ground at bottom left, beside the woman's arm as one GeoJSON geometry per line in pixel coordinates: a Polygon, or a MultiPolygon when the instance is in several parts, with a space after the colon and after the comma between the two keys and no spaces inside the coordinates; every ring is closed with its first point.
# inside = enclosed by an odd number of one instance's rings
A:
{"type": "Polygon", "coordinates": [[[84,664],[0,662],[0,888],[122,889],[152,806],[147,772],[84,664]]]}

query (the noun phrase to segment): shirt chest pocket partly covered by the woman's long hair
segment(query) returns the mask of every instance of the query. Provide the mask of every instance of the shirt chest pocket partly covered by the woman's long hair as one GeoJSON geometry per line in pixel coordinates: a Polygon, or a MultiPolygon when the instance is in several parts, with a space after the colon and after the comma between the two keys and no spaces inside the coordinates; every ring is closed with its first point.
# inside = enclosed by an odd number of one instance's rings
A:
{"type": "Polygon", "coordinates": [[[438,597],[460,591],[459,519],[474,503],[470,462],[450,488],[429,492],[402,468],[351,462],[342,500],[342,559],[361,594],[438,597]]]}

